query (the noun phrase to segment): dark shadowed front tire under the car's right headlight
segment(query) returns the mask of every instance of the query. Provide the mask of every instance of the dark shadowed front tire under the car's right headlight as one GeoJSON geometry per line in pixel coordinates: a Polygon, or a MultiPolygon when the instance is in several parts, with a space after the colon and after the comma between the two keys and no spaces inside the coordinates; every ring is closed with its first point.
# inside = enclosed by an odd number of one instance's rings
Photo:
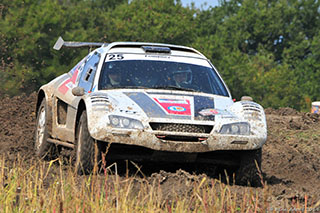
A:
{"type": "Polygon", "coordinates": [[[261,186],[261,178],[259,175],[261,174],[261,156],[261,148],[241,152],[240,167],[236,172],[237,184],[255,187],[261,186]]]}

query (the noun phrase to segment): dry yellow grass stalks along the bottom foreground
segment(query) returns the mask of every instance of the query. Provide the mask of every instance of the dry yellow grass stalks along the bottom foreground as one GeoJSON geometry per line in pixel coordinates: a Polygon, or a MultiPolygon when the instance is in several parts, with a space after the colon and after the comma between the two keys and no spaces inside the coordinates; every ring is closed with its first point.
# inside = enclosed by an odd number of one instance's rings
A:
{"type": "MultiPolygon", "coordinates": [[[[239,194],[235,186],[201,176],[186,183],[191,184],[190,191],[175,194],[173,188],[172,199],[166,199],[160,180],[119,176],[116,164],[88,176],[76,175],[60,159],[30,164],[18,157],[10,165],[1,157],[0,212],[266,212],[272,208],[265,183],[259,189],[242,187],[239,194]]],[[[138,167],[137,173],[141,173],[138,167]]],[[[308,207],[306,203],[307,198],[294,207],[308,207]]]]}

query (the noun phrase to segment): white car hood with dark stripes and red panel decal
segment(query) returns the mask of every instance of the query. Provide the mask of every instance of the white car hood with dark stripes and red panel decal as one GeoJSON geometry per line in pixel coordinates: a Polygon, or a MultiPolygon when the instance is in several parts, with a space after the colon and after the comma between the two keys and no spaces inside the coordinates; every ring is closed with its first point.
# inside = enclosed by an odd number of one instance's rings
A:
{"type": "Polygon", "coordinates": [[[148,118],[215,120],[227,115],[230,97],[187,91],[107,90],[92,94],[107,96],[115,113],[145,115],[148,118]]]}

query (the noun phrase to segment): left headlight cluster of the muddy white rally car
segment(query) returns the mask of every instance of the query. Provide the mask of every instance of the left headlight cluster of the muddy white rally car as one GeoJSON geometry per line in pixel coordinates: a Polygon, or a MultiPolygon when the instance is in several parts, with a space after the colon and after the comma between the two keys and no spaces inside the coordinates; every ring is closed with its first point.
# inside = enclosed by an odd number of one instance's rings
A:
{"type": "Polygon", "coordinates": [[[112,127],[125,129],[143,129],[142,123],[136,119],[117,115],[109,115],[109,120],[112,127]]]}

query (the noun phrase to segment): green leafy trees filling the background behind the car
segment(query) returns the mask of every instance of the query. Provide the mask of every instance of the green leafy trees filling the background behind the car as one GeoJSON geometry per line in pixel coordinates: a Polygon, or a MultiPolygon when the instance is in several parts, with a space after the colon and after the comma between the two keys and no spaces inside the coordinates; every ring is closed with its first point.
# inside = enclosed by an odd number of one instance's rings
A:
{"type": "Polygon", "coordinates": [[[234,98],[309,110],[320,94],[317,0],[221,0],[199,10],[180,0],[2,0],[0,94],[30,93],[87,50],[72,41],[150,41],[191,46],[219,70],[234,98]]]}

